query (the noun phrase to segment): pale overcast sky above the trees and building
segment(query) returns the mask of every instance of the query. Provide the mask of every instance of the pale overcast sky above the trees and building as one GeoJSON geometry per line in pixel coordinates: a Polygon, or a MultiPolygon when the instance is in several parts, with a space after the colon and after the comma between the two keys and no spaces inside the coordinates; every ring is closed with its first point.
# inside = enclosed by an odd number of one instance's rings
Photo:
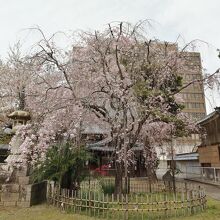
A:
{"type": "MultiPolygon", "coordinates": [[[[220,67],[220,0],[0,0],[0,57],[9,45],[30,41],[35,36],[24,31],[40,26],[46,34],[76,29],[102,29],[111,21],[152,19],[153,33],[160,40],[185,42],[203,40],[200,45],[203,67],[214,72],[220,67]]],[[[220,105],[218,93],[207,93],[207,111],[220,105]]]]}

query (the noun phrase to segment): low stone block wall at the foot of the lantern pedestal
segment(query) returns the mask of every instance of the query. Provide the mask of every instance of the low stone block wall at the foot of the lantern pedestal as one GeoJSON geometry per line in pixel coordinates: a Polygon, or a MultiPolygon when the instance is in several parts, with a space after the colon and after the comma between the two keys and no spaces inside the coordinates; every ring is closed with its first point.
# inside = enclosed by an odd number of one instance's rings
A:
{"type": "Polygon", "coordinates": [[[47,182],[0,185],[0,206],[30,207],[46,201],[47,182]]]}

